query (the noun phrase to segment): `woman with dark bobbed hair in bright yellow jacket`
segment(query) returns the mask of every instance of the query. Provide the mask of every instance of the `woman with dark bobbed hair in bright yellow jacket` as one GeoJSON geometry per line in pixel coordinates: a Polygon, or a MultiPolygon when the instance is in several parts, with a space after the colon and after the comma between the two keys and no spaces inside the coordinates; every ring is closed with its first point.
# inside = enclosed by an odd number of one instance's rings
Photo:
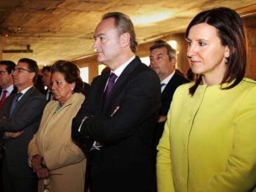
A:
{"type": "Polygon", "coordinates": [[[158,191],[256,191],[256,82],[234,10],[198,14],[186,31],[197,80],[174,94],[158,144],[158,191]]]}

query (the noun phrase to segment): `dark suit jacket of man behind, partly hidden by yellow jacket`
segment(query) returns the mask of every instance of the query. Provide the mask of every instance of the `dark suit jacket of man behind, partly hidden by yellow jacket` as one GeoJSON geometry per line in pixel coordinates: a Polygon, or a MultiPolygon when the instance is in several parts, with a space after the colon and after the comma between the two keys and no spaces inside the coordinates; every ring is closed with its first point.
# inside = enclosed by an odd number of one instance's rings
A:
{"type": "MultiPolygon", "coordinates": [[[[179,73],[175,72],[171,80],[169,80],[168,84],[163,90],[163,93],[161,93],[161,108],[159,115],[167,115],[169,111],[169,107],[171,105],[171,101],[173,101],[173,94],[178,86],[189,83],[189,80],[187,78],[183,77],[179,73]]],[[[158,142],[163,134],[164,130],[164,123],[161,122],[158,123],[157,128],[155,130],[154,139],[153,139],[153,148],[156,151],[156,146],[158,145],[158,142]]]]}

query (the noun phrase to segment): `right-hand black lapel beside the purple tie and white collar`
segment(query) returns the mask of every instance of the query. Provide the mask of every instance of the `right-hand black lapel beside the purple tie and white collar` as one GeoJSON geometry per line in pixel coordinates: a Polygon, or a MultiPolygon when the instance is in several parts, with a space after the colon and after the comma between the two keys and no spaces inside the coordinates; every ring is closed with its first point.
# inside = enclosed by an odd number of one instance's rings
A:
{"type": "MultiPolygon", "coordinates": [[[[111,103],[111,100],[113,99],[113,96],[123,88],[123,84],[127,81],[127,79],[130,77],[130,73],[134,71],[135,67],[141,63],[139,57],[135,57],[134,60],[132,60],[129,65],[124,69],[124,71],[121,73],[121,75],[117,78],[116,83],[113,86],[113,89],[111,90],[111,93],[108,96],[108,99],[105,101],[105,106],[103,107],[103,114],[105,114],[106,109],[108,109],[109,103],[111,103]]],[[[102,97],[101,97],[102,101],[102,97]]]]}

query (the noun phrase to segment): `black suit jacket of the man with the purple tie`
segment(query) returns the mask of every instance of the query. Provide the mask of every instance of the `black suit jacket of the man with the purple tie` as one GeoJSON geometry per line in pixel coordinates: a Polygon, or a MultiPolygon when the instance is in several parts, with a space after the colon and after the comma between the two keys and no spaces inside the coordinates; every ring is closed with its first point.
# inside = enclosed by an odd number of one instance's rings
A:
{"type": "Polygon", "coordinates": [[[109,72],[93,80],[88,99],[72,125],[73,138],[83,146],[90,141],[103,143],[91,154],[92,190],[156,191],[151,142],[160,107],[160,80],[136,57],[117,79],[102,109],[108,77],[109,72]],[[117,106],[120,109],[111,117],[117,106]],[[79,133],[85,115],[90,117],[79,133]]]}

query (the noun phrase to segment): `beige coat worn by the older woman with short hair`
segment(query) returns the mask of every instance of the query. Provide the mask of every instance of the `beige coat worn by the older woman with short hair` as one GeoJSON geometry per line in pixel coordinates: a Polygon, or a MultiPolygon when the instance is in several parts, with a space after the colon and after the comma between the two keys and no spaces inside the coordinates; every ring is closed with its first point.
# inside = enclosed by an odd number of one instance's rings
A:
{"type": "MultiPolygon", "coordinates": [[[[40,154],[50,170],[51,192],[83,192],[85,180],[85,156],[71,140],[72,119],[80,109],[85,97],[74,93],[59,109],[58,101],[51,101],[45,107],[40,128],[28,146],[28,156],[40,154]]],[[[43,191],[43,181],[38,191],[43,191]]]]}

